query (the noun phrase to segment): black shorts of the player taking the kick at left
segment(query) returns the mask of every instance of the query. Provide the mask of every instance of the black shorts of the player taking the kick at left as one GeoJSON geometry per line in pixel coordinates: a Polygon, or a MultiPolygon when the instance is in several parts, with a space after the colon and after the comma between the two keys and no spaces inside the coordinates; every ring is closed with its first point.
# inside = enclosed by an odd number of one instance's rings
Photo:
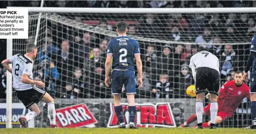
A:
{"type": "Polygon", "coordinates": [[[18,91],[16,90],[18,99],[29,108],[33,103],[38,103],[46,93],[45,90],[33,87],[31,89],[18,91]]]}

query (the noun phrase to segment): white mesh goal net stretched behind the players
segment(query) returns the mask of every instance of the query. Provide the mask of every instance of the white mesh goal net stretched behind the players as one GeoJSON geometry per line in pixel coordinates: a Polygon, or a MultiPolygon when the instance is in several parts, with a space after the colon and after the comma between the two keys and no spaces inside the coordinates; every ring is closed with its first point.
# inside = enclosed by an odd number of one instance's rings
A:
{"type": "MultiPolygon", "coordinates": [[[[207,45],[220,59],[222,85],[234,78],[234,71],[244,70],[255,32],[254,20],[255,14],[43,13],[34,79],[42,80],[44,90],[55,99],[66,102],[112,98],[111,89],[104,84],[107,44],[117,36],[116,23],[126,21],[128,36],[139,42],[143,62],[144,85],[137,89],[135,98],[152,102],[157,98],[189,100],[186,88],[194,85],[189,62],[197,48],[207,45]]],[[[24,54],[26,44],[34,43],[37,21],[38,14],[30,14],[29,39],[15,39],[13,54],[24,54]]],[[[122,98],[126,98],[125,90],[122,98]]],[[[14,101],[18,102],[15,94],[14,101]]],[[[101,108],[103,105],[99,107],[100,111],[108,110],[101,108]]],[[[184,107],[193,109],[195,105],[185,103],[184,107]]],[[[175,117],[176,125],[184,123],[194,112],[175,117]]],[[[47,111],[36,120],[36,127],[49,123],[43,115],[47,117],[47,111]]],[[[102,122],[108,120],[105,117],[102,122]]],[[[234,116],[219,126],[243,127],[250,123],[249,102],[244,100],[234,116]]]]}

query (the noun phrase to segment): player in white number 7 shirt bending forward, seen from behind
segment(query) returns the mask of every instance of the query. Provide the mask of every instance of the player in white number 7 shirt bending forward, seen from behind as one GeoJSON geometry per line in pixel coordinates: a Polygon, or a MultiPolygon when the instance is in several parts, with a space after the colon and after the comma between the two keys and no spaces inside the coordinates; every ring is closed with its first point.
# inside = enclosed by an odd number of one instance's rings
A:
{"type": "Polygon", "coordinates": [[[197,128],[203,129],[203,98],[207,88],[211,95],[210,129],[216,129],[215,118],[218,111],[217,99],[220,89],[219,59],[208,52],[206,46],[202,45],[198,53],[191,57],[189,66],[195,80],[197,128]]]}

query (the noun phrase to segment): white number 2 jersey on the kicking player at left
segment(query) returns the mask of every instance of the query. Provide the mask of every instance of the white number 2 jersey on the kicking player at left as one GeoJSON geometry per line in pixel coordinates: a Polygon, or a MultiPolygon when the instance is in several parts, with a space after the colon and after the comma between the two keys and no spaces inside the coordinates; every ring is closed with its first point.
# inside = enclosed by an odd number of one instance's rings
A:
{"type": "Polygon", "coordinates": [[[13,88],[15,90],[27,90],[35,87],[35,85],[21,82],[22,74],[29,75],[29,78],[33,80],[33,60],[22,54],[16,54],[9,60],[13,63],[13,88]]]}

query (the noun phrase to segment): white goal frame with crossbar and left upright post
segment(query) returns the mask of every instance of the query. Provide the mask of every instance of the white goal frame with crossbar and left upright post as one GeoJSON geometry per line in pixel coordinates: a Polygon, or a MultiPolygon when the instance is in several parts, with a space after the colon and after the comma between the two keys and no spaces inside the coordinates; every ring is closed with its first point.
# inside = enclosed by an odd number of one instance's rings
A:
{"type": "MultiPolygon", "coordinates": [[[[126,13],[126,14],[195,14],[195,13],[256,13],[256,8],[41,8],[7,7],[8,9],[29,9],[29,13],[126,13]]],[[[40,15],[39,15],[40,17],[40,15]]],[[[39,32],[37,28],[36,33],[39,32]]],[[[35,43],[37,42],[37,36],[35,43]]],[[[7,58],[13,54],[13,39],[7,39],[7,58]]],[[[7,128],[12,128],[12,74],[7,72],[7,128]]]]}

